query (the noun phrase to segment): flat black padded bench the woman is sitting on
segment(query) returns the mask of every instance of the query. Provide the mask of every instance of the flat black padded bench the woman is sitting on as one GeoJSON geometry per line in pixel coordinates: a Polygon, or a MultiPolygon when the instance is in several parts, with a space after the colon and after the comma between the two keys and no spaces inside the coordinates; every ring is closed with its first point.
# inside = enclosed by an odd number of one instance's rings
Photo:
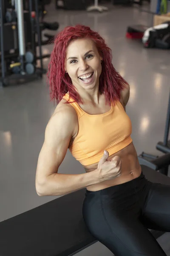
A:
{"type": "MultiPolygon", "coordinates": [[[[142,170],[148,180],[170,185],[170,177],[142,170]]],[[[81,189],[0,222],[0,256],[71,256],[97,242],[82,218],[84,198],[81,189]]]]}

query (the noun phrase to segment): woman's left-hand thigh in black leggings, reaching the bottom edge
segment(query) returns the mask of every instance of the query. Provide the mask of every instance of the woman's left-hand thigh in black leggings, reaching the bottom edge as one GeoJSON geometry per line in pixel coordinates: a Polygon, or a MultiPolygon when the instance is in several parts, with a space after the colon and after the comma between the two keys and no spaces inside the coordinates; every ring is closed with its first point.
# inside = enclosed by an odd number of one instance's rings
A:
{"type": "Polygon", "coordinates": [[[115,256],[166,256],[138,219],[103,208],[101,198],[84,203],[83,217],[89,232],[115,256]]]}

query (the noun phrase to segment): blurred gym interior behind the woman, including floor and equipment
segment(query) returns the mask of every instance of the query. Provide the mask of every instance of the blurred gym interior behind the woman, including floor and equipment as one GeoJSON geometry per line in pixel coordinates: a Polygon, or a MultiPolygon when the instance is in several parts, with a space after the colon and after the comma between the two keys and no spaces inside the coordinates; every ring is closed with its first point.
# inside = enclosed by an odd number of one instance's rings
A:
{"type": "MultiPolygon", "coordinates": [[[[65,26],[90,26],[112,49],[114,67],[130,84],[126,111],[138,155],[152,161],[170,152],[169,12],[170,1],[156,0],[0,0],[0,221],[57,198],[37,195],[35,173],[56,108],[46,82],[49,57],[65,26]]],[[[84,169],[68,151],[59,172],[84,169]]],[[[170,235],[158,241],[170,255],[170,235]]],[[[99,242],[77,253],[88,254],[112,255],[99,242]]]]}

